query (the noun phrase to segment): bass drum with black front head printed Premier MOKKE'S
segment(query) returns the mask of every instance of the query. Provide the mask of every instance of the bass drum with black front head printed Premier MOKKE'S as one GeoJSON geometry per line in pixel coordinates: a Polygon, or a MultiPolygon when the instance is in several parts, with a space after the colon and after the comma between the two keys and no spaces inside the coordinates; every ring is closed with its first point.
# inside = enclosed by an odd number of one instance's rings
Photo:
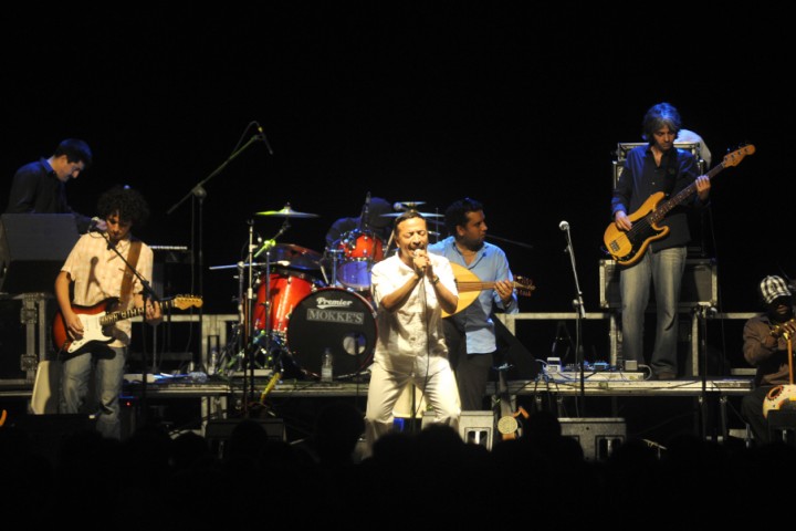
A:
{"type": "Polygon", "coordinates": [[[293,309],[287,323],[287,352],[307,376],[320,377],[323,353],[333,356],[334,379],[362,374],[376,347],[376,311],[356,293],[323,288],[293,309]]]}

